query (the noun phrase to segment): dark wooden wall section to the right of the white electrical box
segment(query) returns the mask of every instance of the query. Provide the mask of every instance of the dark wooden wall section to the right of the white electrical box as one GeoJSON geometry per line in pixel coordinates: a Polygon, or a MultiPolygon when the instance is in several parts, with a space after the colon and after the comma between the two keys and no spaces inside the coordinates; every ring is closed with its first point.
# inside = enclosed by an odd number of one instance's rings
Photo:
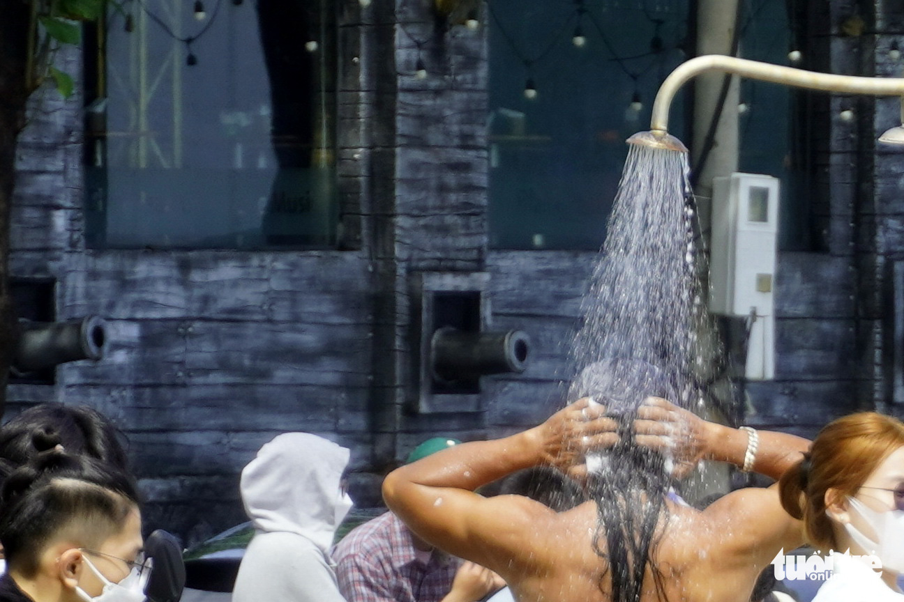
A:
{"type": "MultiPolygon", "coordinates": [[[[900,43],[891,34],[901,18],[888,3],[809,3],[805,68],[900,77],[900,61],[888,51],[900,43]]],[[[746,391],[751,423],[813,436],[849,412],[900,415],[889,373],[900,363],[893,321],[904,300],[891,295],[889,262],[904,251],[892,235],[904,208],[904,162],[876,143],[898,125],[898,99],[820,94],[809,110],[814,252],[779,256],[776,379],[746,391]],[[846,108],[852,121],[840,116],[846,108]]]]}

